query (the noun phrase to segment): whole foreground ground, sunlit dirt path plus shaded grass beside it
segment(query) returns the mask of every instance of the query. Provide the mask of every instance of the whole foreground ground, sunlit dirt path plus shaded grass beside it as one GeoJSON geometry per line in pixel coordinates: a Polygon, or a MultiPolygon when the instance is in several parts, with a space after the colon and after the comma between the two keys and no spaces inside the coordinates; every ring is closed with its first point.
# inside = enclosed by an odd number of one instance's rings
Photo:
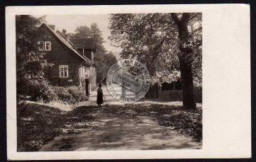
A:
{"type": "Polygon", "coordinates": [[[30,103],[18,113],[18,124],[18,151],[202,147],[201,110],[177,105],[81,106],[65,112],[30,103]]]}

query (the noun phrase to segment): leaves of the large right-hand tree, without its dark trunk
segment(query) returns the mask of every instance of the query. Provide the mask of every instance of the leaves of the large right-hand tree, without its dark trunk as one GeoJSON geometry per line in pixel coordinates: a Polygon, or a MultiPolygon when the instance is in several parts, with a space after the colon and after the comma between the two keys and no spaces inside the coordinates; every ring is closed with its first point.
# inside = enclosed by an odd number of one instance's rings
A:
{"type": "MultiPolygon", "coordinates": [[[[194,77],[199,77],[195,80],[201,81],[201,24],[196,22],[201,22],[200,14],[189,21],[188,26],[193,31],[184,45],[193,42],[189,57],[193,59],[194,77]]],[[[112,14],[110,30],[112,45],[123,49],[121,57],[136,58],[144,63],[151,72],[153,83],[176,81],[180,77],[178,54],[181,42],[171,13],[112,14]]]]}

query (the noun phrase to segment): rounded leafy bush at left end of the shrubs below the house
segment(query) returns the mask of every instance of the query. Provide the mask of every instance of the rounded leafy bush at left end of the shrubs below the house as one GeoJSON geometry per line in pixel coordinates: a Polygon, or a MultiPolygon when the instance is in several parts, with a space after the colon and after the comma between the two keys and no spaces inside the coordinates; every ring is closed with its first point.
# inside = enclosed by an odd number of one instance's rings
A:
{"type": "Polygon", "coordinates": [[[26,83],[26,95],[31,96],[30,100],[49,103],[57,98],[53,86],[44,79],[29,80],[26,83]]]}

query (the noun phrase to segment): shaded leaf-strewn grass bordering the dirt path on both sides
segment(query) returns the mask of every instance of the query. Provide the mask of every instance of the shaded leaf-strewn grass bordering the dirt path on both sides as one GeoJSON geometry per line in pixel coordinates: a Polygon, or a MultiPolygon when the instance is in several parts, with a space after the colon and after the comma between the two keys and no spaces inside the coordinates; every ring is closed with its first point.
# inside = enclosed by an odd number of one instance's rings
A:
{"type": "MultiPolygon", "coordinates": [[[[60,134],[80,134],[88,127],[97,129],[92,125],[95,120],[92,114],[97,110],[117,114],[119,118],[126,119],[147,116],[159,125],[176,129],[186,137],[196,141],[202,140],[202,110],[184,110],[180,105],[139,103],[100,108],[80,106],[67,112],[48,105],[26,103],[19,105],[17,110],[18,151],[38,151],[41,146],[60,134]],[[129,110],[136,113],[129,113],[129,110]]],[[[70,142],[63,142],[68,149],[70,142]]]]}

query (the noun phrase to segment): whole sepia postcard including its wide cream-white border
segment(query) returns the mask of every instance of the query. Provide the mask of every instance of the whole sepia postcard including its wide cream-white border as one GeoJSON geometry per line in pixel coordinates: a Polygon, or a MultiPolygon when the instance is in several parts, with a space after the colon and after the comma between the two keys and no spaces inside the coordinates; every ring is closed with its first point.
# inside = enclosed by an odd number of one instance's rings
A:
{"type": "Polygon", "coordinates": [[[8,158],[250,157],[249,13],[7,7],[8,158]]]}

